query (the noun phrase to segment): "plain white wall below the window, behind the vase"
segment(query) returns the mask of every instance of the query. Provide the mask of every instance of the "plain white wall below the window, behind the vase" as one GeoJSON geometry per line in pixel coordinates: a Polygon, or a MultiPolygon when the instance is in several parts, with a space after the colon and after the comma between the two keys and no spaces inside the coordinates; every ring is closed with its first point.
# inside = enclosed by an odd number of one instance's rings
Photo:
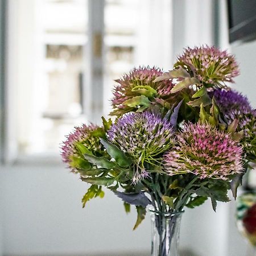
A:
{"type": "MultiPolygon", "coordinates": [[[[6,167],[0,180],[5,255],[150,254],[149,218],[133,232],[135,212],[126,216],[121,200],[112,192],[82,209],[87,185],[63,164],[6,167]]],[[[224,245],[227,210],[228,205],[220,204],[214,213],[210,202],[186,209],[181,249],[192,250],[196,256],[228,256],[224,245]]]]}

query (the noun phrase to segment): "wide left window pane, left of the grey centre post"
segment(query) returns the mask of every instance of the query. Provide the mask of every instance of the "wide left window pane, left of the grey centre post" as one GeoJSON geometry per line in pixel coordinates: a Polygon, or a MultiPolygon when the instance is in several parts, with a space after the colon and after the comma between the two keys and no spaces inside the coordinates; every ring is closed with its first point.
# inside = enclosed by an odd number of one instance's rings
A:
{"type": "MultiPolygon", "coordinates": [[[[26,5],[26,1],[22,4],[26,5]]],[[[81,90],[86,55],[87,1],[35,1],[33,10],[31,16],[34,18],[31,19],[34,19],[36,31],[28,27],[27,33],[34,33],[32,44],[36,51],[32,69],[27,72],[36,75],[33,81],[28,81],[33,89],[31,97],[26,99],[32,101],[29,105],[33,114],[27,115],[26,122],[20,119],[19,123],[24,131],[19,133],[19,150],[24,154],[59,151],[64,135],[74,125],[85,121],[81,90]],[[28,130],[30,133],[24,135],[28,130]]],[[[22,45],[18,50],[24,51],[22,45]]],[[[23,61],[20,59],[20,63],[23,61]]],[[[18,86],[24,87],[22,84],[18,86]]],[[[26,85],[23,88],[29,89],[26,85]]],[[[26,112],[21,114],[24,116],[26,112]]]]}

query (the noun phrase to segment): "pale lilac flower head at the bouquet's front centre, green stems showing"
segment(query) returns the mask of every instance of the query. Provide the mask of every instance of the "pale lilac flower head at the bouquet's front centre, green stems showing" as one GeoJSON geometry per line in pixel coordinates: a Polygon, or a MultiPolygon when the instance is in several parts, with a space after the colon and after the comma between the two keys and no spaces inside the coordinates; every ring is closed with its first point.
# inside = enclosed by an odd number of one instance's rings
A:
{"type": "Polygon", "coordinates": [[[137,162],[133,181],[147,175],[144,163],[158,164],[173,144],[172,125],[150,112],[123,115],[108,131],[108,138],[137,162]]]}

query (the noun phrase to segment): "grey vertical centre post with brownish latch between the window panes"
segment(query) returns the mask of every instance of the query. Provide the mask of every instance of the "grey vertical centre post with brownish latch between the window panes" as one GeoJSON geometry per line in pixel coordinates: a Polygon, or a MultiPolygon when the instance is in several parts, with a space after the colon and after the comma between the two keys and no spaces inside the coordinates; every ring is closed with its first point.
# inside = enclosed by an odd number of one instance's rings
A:
{"type": "Polygon", "coordinates": [[[86,119],[95,123],[100,123],[103,113],[104,2],[88,1],[88,44],[83,95],[86,119]]]}

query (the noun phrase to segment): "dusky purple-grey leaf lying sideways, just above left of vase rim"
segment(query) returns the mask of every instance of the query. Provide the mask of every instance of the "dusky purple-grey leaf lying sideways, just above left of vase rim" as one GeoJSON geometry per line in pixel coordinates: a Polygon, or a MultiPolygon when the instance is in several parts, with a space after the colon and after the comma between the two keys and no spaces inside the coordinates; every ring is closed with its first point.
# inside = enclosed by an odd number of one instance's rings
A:
{"type": "Polygon", "coordinates": [[[148,204],[151,204],[151,201],[145,196],[143,192],[140,193],[125,193],[119,191],[113,191],[115,195],[121,198],[123,201],[129,204],[147,207],[148,204]]]}

